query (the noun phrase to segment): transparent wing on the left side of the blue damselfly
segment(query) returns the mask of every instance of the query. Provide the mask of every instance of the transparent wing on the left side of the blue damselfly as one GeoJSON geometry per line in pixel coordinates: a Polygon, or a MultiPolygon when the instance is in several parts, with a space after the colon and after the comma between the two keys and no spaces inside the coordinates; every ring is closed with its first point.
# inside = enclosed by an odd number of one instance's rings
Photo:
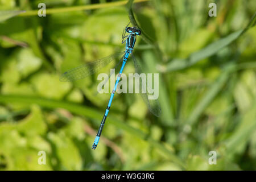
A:
{"type": "Polygon", "coordinates": [[[115,60],[117,57],[120,57],[125,52],[115,53],[114,55],[110,55],[108,57],[104,57],[102,59],[92,61],[87,64],[82,64],[79,67],[69,69],[69,71],[64,72],[60,76],[60,81],[76,81],[82,78],[88,77],[93,73],[100,71],[100,69],[106,67],[110,62],[115,60]]]}

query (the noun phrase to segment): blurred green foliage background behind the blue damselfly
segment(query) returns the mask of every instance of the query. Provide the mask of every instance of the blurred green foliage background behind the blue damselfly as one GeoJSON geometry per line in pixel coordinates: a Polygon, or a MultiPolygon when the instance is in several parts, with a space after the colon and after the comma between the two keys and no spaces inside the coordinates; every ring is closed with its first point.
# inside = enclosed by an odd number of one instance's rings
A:
{"type": "MultiPolygon", "coordinates": [[[[69,11],[94,1],[45,0],[56,12],[22,11],[40,2],[0,0],[1,170],[256,169],[255,1],[155,0],[127,11],[102,0],[101,9],[69,11]],[[93,151],[109,94],[96,94],[97,74],[74,83],[59,75],[122,51],[133,13],[143,32],[134,54],[160,73],[162,115],[137,94],[116,94],[93,151]]],[[[128,64],[124,72],[133,71],[128,64]]]]}

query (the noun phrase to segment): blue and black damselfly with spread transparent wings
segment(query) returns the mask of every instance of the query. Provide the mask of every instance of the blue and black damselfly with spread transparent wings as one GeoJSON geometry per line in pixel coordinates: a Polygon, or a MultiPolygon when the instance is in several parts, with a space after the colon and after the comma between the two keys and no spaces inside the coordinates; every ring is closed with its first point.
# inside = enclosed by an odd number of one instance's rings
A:
{"type": "MultiPolygon", "coordinates": [[[[115,57],[123,55],[121,60],[119,61],[119,63],[121,63],[121,61],[122,61],[122,66],[121,66],[121,69],[119,71],[119,75],[117,77],[117,80],[115,81],[115,86],[114,86],[113,91],[111,93],[108,106],[106,107],[104,117],[102,118],[100,128],[98,129],[98,133],[96,135],[96,138],[95,138],[93,146],[92,146],[92,148],[94,150],[98,145],[98,141],[100,140],[102,129],[104,127],[106,118],[108,117],[109,109],[110,109],[110,106],[111,106],[111,103],[112,103],[112,100],[113,100],[113,97],[114,97],[115,90],[117,89],[117,85],[118,85],[118,82],[121,78],[123,68],[125,67],[127,59],[129,58],[130,55],[131,55],[130,57],[132,57],[132,59],[133,59],[133,63],[134,63],[134,67],[135,67],[135,73],[138,73],[137,75],[141,75],[141,73],[142,73],[142,69],[139,66],[139,63],[135,60],[135,57],[132,54],[133,49],[134,49],[134,45],[135,45],[135,42],[136,42],[137,35],[141,35],[141,30],[139,30],[137,27],[129,27],[129,24],[127,24],[127,26],[125,27],[125,30],[123,31],[123,34],[122,34],[122,44],[126,43],[125,51],[123,51],[121,53],[111,55],[111,56],[108,56],[108,57],[105,57],[105,58],[100,59],[100,60],[93,61],[93,62],[88,63],[88,64],[80,65],[79,67],[76,67],[76,68],[73,68],[73,69],[71,69],[67,72],[64,72],[60,77],[60,81],[80,80],[80,79],[85,78],[89,75],[92,75],[93,73],[95,73],[97,71],[100,71],[101,68],[105,67],[111,61],[113,61],[115,57]],[[126,35],[126,33],[128,33],[129,35],[126,35]]],[[[141,77],[139,77],[139,85],[142,86],[142,90],[148,90],[148,89],[146,89],[146,82],[144,82],[144,80],[141,77]]],[[[151,113],[153,113],[154,115],[159,117],[159,115],[161,113],[161,109],[160,109],[158,100],[148,100],[148,93],[147,92],[141,93],[141,96],[143,98],[143,101],[148,106],[148,109],[151,111],[151,113]]]]}

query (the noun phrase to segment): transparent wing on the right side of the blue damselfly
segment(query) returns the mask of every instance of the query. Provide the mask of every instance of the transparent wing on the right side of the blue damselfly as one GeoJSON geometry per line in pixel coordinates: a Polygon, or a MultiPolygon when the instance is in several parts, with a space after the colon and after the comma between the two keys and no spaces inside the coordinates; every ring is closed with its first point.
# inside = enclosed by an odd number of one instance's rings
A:
{"type": "MultiPolygon", "coordinates": [[[[139,65],[138,61],[136,61],[136,59],[135,59],[133,54],[131,54],[131,57],[133,58],[135,73],[138,73],[139,75],[141,75],[141,73],[143,73],[142,69],[141,69],[141,66],[139,65]]],[[[141,77],[139,77],[139,85],[142,85],[142,90],[146,91],[146,93],[141,93],[140,92],[141,96],[143,98],[143,101],[145,102],[145,104],[147,105],[147,107],[151,111],[151,113],[154,114],[156,117],[159,117],[160,114],[162,113],[160,104],[159,104],[157,99],[155,99],[155,100],[149,100],[148,99],[147,84],[146,84],[146,82],[141,77]]]]}

